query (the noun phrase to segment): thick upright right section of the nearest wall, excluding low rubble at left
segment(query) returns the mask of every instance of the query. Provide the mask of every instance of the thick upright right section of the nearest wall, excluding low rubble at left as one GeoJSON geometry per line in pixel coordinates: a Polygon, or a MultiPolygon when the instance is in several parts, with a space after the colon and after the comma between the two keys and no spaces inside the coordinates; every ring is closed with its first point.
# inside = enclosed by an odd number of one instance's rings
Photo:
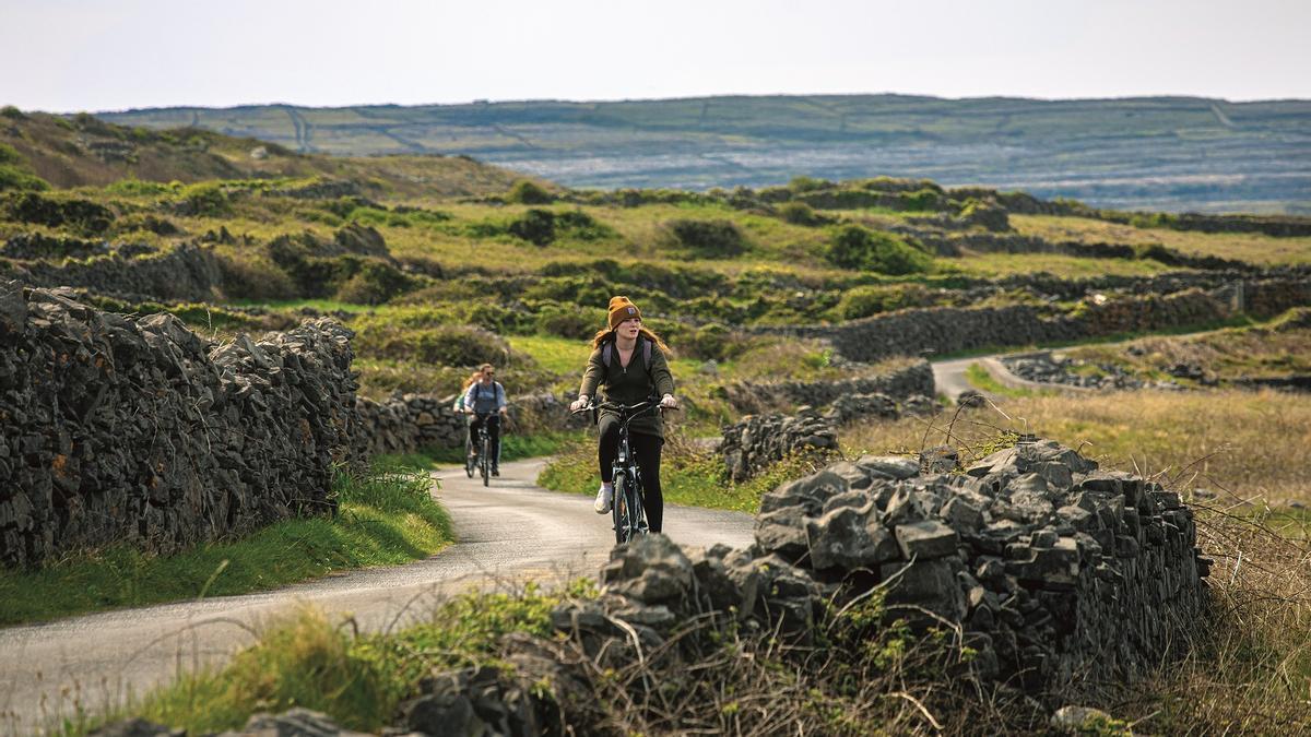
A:
{"type": "Polygon", "coordinates": [[[1179,494],[1050,441],[965,475],[838,463],[768,494],[756,543],[815,574],[874,572],[891,614],[960,624],[983,673],[1034,692],[1148,673],[1207,601],[1210,561],[1179,494]]]}

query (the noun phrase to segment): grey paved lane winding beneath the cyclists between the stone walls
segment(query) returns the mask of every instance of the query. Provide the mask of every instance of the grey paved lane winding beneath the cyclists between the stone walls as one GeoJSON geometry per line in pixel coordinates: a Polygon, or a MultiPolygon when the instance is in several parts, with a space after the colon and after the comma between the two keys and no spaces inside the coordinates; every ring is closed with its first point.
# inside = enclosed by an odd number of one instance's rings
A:
{"type": "MultiPolygon", "coordinates": [[[[586,496],[534,485],[541,460],[506,463],[484,488],[463,469],[439,471],[438,500],[456,544],[422,561],[358,570],[243,597],[161,605],[0,629],[0,733],[33,733],[75,707],[101,711],[169,681],[224,662],[253,631],[299,602],[347,614],[379,631],[422,619],[443,597],[472,586],[595,576],[614,543],[608,517],[586,496]]],[[[751,540],[750,515],[667,508],[665,527],[683,544],[751,540]]]]}

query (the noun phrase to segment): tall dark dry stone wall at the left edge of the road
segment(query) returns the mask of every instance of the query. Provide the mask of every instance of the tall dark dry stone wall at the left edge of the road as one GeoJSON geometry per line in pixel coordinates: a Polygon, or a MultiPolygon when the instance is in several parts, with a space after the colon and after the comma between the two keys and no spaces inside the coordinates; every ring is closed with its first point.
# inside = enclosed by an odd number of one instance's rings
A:
{"type": "Polygon", "coordinates": [[[329,511],[355,430],[350,330],[211,345],[172,315],[0,285],[0,564],[169,552],[329,511]]]}

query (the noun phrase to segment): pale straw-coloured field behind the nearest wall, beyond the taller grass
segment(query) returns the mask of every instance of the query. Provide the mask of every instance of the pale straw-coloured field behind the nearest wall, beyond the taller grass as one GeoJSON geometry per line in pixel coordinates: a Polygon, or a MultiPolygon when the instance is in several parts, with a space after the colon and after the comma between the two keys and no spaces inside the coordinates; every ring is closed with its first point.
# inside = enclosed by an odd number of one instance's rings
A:
{"type": "Polygon", "coordinates": [[[1311,502],[1311,396],[1273,391],[1114,392],[1002,399],[843,435],[848,452],[982,446],[1000,430],[1057,439],[1104,468],[1137,471],[1223,500],[1311,502]],[[950,439],[948,437],[950,428],[950,439]]]}

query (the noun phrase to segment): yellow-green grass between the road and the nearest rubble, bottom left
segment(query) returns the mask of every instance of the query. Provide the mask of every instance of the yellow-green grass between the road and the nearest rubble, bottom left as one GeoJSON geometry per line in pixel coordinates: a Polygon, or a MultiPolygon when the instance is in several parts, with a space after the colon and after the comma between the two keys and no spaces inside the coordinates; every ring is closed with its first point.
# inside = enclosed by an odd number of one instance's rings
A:
{"type": "Polygon", "coordinates": [[[556,593],[534,585],[471,593],[438,606],[423,624],[395,633],[350,635],[312,608],[274,623],[223,669],[186,674],[101,716],[79,715],[55,732],[87,734],[128,716],[190,734],[239,729],[256,712],[305,707],[346,729],[376,732],[400,702],[422,692],[434,671],[493,662],[509,632],[551,633],[551,610],[566,597],[595,595],[578,580],[556,593]]]}

